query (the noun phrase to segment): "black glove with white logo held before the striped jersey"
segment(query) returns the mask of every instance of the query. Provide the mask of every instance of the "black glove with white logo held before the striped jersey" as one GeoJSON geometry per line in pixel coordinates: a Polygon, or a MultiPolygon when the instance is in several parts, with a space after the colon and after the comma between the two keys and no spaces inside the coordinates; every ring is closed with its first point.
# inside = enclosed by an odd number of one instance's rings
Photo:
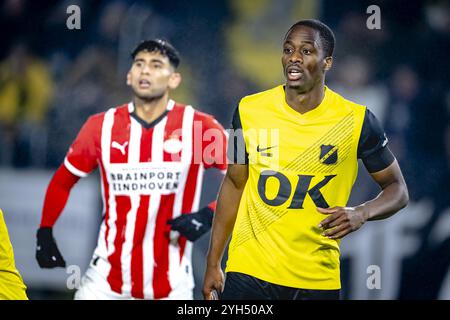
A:
{"type": "Polygon", "coordinates": [[[211,229],[213,216],[214,211],[210,207],[204,207],[197,212],[168,220],[167,223],[172,226],[172,230],[178,231],[190,241],[195,241],[211,229]]]}

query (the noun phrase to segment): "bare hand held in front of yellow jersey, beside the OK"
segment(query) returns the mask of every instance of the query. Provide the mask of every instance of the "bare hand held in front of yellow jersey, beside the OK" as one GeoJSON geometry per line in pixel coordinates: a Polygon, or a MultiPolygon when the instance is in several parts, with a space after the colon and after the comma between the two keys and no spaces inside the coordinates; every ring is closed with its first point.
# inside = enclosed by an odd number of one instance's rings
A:
{"type": "Polygon", "coordinates": [[[350,232],[356,231],[366,222],[367,217],[360,208],[333,207],[317,208],[317,211],[329,216],[322,220],[318,227],[323,228],[325,237],[341,239],[350,232]]]}

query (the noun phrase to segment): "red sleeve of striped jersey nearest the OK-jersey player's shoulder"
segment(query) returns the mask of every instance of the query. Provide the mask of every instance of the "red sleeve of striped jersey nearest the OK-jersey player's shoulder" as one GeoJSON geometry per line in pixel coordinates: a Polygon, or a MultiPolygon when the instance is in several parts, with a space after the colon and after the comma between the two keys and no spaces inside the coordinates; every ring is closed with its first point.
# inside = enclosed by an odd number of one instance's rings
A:
{"type": "Polygon", "coordinates": [[[224,127],[212,116],[201,114],[202,130],[202,162],[205,169],[227,169],[227,141],[228,133],[224,127]]]}

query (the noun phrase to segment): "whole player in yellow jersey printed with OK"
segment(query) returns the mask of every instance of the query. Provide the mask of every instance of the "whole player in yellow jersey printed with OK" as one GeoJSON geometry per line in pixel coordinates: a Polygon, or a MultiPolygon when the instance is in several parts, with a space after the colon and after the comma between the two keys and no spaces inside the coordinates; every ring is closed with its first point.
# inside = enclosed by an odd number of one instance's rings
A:
{"type": "Polygon", "coordinates": [[[205,299],[339,299],[339,242],[406,206],[408,190],[375,116],[325,86],[334,35],[317,20],[287,32],[285,85],[244,97],[233,116],[205,299]],[[347,201],[362,159],[380,194],[347,201]],[[226,281],[221,260],[231,235],[226,281]]]}

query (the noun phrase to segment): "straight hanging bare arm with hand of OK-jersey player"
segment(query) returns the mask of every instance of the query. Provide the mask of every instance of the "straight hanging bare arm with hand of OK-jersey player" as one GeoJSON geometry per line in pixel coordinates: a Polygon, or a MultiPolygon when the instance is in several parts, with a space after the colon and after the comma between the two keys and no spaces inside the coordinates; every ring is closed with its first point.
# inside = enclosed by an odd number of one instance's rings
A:
{"type": "Polygon", "coordinates": [[[212,299],[212,292],[223,291],[225,277],[221,261],[225,246],[233,231],[242,193],[248,179],[248,165],[231,164],[223,180],[217,199],[211,240],[203,281],[203,297],[212,299]]]}

